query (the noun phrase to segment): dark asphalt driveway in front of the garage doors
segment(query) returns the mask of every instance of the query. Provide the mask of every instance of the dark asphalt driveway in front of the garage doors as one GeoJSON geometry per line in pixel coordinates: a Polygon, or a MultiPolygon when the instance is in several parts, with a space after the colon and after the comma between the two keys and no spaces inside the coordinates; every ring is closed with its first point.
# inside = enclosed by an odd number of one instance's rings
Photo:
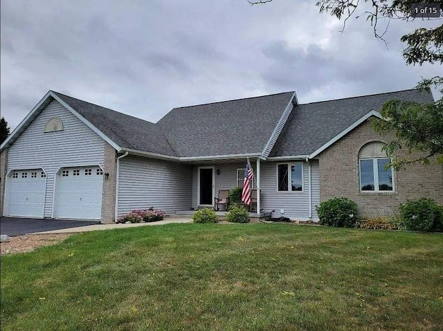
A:
{"type": "Polygon", "coordinates": [[[78,226],[88,226],[100,224],[96,221],[68,221],[68,220],[36,220],[33,218],[0,218],[0,234],[25,235],[26,233],[43,232],[51,230],[76,228],[78,226]]]}

